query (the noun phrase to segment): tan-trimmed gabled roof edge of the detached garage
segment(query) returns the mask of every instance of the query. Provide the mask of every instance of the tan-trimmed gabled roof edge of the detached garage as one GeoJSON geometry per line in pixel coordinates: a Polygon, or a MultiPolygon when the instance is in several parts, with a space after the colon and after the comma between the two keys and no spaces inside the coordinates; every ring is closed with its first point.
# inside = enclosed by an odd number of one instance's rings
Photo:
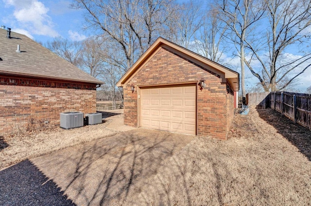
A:
{"type": "MultiPolygon", "coordinates": [[[[123,87],[124,84],[131,79],[133,75],[135,75],[140,68],[148,62],[155,52],[158,51],[160,47],[169,49],[178,55],[190,60],[193,63],[196,63],[204,68],[208,68],[209,70],[219,74],[221,76],[222,82],[228,81],[233,91],[237,92],[240,88],[240,74],[236,71],[233,71],[219,63],[213,62],[199,54],[196,54],[186,48],[180,47],[166,39],[159,37],[155,43],[151,45],[150,48],[138,59],[136,63],[123,75],[123,77],[118,81],[117,86],[123,87]]],[[[199,80],[199,79],[198,79],[199,80]]]]}

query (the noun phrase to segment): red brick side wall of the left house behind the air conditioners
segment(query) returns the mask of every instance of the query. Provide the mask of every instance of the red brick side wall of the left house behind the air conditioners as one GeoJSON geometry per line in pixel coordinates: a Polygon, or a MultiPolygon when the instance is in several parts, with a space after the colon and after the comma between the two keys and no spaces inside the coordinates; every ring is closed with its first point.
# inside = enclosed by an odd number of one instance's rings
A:
{"type": "Polygon", "coordinates": [[[0,78],[0,110],[0,133],[24,130],[31,121],[58,125],[61,112],[96,111],[96,86],[0,78]]]}

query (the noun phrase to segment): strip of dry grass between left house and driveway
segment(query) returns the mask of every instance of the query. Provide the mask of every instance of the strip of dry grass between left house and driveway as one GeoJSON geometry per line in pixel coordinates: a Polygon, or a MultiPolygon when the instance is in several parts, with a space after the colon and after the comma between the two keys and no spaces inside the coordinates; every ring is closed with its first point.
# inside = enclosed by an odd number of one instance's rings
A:
{"type": "MultiPolygon", "coordinates": [[[[114,110],[114,115],[122,110],[114,110]]],[[[112,120],[103,124],[75,129],[49,127],[45,129],[27,129],[0,137],[0,170],[22,160],[38,157],[76,144],[112,136],[120,131],[106,128],[112,120]]]]}

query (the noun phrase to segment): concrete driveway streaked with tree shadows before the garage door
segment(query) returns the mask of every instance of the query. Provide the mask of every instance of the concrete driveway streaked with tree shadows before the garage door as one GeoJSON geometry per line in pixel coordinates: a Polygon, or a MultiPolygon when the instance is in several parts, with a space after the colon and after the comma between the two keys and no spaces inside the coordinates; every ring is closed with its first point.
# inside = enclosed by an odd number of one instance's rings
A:
{"type": "Polygon", "coordinates": [[[137,128],[30,161],[77,205],[121,205],[193,138],[137,128]]]}

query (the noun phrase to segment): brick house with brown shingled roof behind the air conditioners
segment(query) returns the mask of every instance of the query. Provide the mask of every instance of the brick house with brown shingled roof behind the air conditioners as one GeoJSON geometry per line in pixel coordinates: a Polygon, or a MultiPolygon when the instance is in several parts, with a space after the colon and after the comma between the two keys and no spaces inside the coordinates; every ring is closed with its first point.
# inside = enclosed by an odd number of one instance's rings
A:
{"type": "Polygon", "coordinates": [[[103,84],[25,35],[0,29],[0,133],[96,111],[103,84]],[[20,50],[18,50],[18,46],[20,50]]]}

